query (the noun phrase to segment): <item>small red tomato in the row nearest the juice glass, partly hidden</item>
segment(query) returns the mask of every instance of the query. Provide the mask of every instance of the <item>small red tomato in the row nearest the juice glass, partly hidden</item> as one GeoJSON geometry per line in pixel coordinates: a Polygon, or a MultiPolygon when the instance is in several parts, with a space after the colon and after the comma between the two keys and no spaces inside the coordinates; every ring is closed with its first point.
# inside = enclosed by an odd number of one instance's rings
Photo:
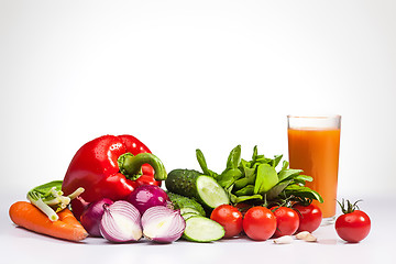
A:
{"type": "Polygon", "coordinates": [[[317,230],[322,220],[322,213],[319,207],[310,204],[309,206],[295,205],[293,209],[297,211],[299,217],[299,227],[297,232],[308,231],[314,232],[317,230]]]}

